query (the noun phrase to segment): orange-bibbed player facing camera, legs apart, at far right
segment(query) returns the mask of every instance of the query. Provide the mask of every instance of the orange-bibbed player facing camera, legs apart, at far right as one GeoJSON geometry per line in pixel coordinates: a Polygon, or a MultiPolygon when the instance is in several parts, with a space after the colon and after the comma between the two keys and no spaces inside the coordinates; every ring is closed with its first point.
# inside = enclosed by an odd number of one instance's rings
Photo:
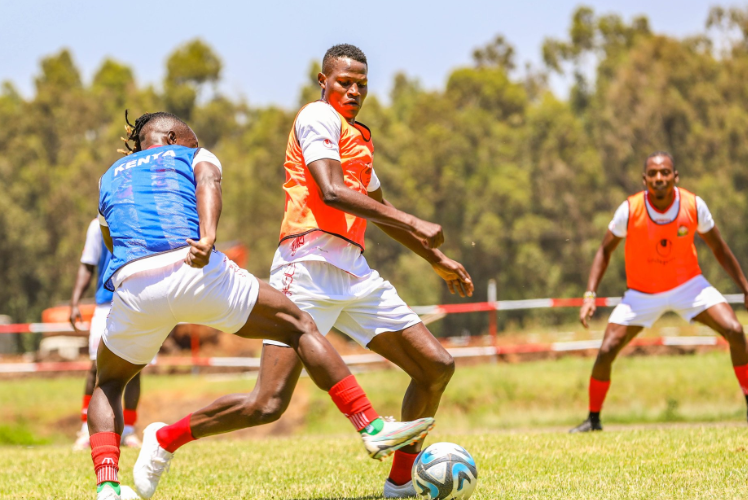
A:
{"type": "Polygon", "coordinates": [[[592,263],[582,324],[595,312],[595,291],[610,256],[626,238],[628,290],[608,320],[589,386],[589,416],[571,432],[602,430],[600,410],[610,387],[610,372],[618,353],[645,327],[666,311],[698,321],[722,335],[730,345],[730,357],[738,383],[748,401],[748,354],[743,327],[725,298],[701,275],[696,257],[696,233],[709,246],[720,265],[746,294],[748,281],[730,247],[712,219],[706,203],[685,189],[673,157],[656,152],[644,162],[644,191],[623,202],[608,226],[592,263]]]}

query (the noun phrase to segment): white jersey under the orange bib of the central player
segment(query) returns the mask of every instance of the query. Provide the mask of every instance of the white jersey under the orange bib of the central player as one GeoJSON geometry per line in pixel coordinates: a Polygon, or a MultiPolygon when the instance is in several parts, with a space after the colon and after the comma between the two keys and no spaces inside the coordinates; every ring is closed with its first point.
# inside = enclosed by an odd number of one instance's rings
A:
{"type": "MultiPolygon", "coordinates": [[[[321,159],[340,161],[340,115],[326,102],[313,102],[302,109],[296,118],[294,131],[307,165],[321,159]]],[[[367,189],[373,192],[380,186],[379,178],[372,169],[367,189]]],[[[282,241],[270,270],[303,261],[327,262],[357,277],[371,273],[358,246],[322,231],[282,241]]]]}

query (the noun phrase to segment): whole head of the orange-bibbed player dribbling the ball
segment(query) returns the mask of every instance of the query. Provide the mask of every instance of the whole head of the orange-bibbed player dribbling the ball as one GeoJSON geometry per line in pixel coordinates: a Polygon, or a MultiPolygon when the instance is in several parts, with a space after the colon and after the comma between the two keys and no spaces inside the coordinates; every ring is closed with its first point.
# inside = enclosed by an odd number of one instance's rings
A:
{"type": "Polygon", "coordinates": [[[347,120],[354,120],[368,92],[366,55],[354,45],[333,45],[322,59],[317,75],[322,99],[347,120]]]}

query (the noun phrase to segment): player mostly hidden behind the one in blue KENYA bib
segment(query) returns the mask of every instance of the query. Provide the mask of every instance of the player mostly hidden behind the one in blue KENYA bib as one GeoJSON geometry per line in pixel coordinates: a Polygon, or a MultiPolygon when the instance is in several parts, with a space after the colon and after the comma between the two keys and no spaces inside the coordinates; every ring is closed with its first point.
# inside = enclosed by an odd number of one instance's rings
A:
{"type": "MultiPolygon", "coordinates": [[[[91,221],[86,232],[86,244],[83,246],[81,263],[70,299],[70,324],[78,331],[78,324],[83,321],[80,313],[80,299],[88,289],[96,269],[96,309],[88,333],[88,354],[91,358],[91,369],[86,374],[86,384],[83,388],[83,407],[81,409],[81,430],[73,445],[75,450],[87,450],[90,446],[88,436],[88,404],[91,401],[94,384],[96,383],[96,352],[99,349],[101,334],[106,327],[106,317],[112,308],[112,292],[104,288],[104,272],[106,271],[112,253],[104,245],[101,227],[98,219],[91,221]]],[[[140,400],[140,374],[137,374],[127,384],[125,389],[125,427],[122,431],[122,444],[129,448],[139,448],[140,440],[135,434],[135,422],[138,419],[138,401],[140,400]]]]}

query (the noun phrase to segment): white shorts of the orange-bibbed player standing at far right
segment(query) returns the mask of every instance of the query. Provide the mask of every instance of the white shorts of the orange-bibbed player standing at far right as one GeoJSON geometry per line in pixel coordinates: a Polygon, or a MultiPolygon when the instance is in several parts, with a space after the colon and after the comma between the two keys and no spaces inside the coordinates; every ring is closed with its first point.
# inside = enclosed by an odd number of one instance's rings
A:
{"type": "Polygon", "coordinates": [[[727,302],[702,275],[662,293],[627,290],[621,303],[613,309],[608,323],[649,328],[667,311],[678,313],[687,321],[712,306],[727,302]]]}

